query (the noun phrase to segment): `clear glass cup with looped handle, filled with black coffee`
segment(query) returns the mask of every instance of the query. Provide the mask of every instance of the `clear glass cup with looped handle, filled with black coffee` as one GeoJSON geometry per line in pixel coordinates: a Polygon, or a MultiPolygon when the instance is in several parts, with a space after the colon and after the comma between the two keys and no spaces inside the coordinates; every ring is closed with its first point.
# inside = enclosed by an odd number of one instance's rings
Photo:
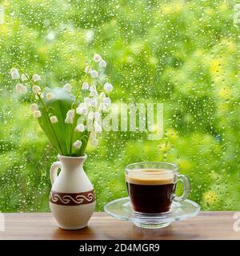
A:
{"type": "Polygon", "coordinates": [[[136,162],[126,166],[126,186],[134,214],[168,214],[172,202],[186,199],[190,192],[188,178],[178,174],[178,166],[169,162],[136,162]],[[175,194],[182,182],[181,196],[175,194]]]}

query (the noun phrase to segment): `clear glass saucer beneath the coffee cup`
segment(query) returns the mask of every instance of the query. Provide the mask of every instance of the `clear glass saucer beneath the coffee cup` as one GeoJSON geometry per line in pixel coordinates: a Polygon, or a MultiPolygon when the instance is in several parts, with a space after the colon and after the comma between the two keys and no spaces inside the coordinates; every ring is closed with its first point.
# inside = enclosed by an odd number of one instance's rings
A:
{"type": "Polygon", "coordinates": [[[182,202],[172,202],[170,211],[162,214],[142,214],[134,212],[130,198],[119,198],[104,206],[106,214],[126,221],[134,222],[136,226],[146,229],[159,229],[169,226],[171,222],[178,222],[196,216],[200,206],[188,199],[182,202]]]}

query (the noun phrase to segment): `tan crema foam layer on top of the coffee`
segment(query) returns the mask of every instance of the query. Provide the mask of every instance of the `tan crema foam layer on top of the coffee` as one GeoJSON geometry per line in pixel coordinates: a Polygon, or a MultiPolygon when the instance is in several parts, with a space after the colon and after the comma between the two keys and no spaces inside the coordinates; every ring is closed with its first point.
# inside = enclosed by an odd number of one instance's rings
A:
{"type": "Polygon", "coordinates": [[[130,170],[126,174],[126,182],[137,185],[174,184],[174,174],[160,169],[130,170]]]}

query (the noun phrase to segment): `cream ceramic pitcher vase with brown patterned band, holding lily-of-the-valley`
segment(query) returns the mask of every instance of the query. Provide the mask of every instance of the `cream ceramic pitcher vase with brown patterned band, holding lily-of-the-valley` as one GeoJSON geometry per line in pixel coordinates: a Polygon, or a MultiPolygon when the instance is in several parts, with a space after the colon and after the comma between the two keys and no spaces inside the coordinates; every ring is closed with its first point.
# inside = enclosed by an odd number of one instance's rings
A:
{"type": "Polygon", "coordinates": [[[82,157],[58,154],[58,159],[50,168],[50,210],[62,229],[82,229],[87,226],[96,203],[94,187],[82,169],[86,154],[82,157]]]}

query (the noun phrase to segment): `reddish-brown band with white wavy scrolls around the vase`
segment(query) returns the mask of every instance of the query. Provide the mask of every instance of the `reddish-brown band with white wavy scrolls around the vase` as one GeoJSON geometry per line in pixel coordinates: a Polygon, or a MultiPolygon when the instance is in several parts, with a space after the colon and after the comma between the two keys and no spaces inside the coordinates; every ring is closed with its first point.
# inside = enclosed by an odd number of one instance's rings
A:
{"type": "Polygon", "coordinates": [[[94,190],[82,193],[58,193],[50,192],[50,202],[61,206],[78,206],[88,204],[96,200],[94,190]]]}

